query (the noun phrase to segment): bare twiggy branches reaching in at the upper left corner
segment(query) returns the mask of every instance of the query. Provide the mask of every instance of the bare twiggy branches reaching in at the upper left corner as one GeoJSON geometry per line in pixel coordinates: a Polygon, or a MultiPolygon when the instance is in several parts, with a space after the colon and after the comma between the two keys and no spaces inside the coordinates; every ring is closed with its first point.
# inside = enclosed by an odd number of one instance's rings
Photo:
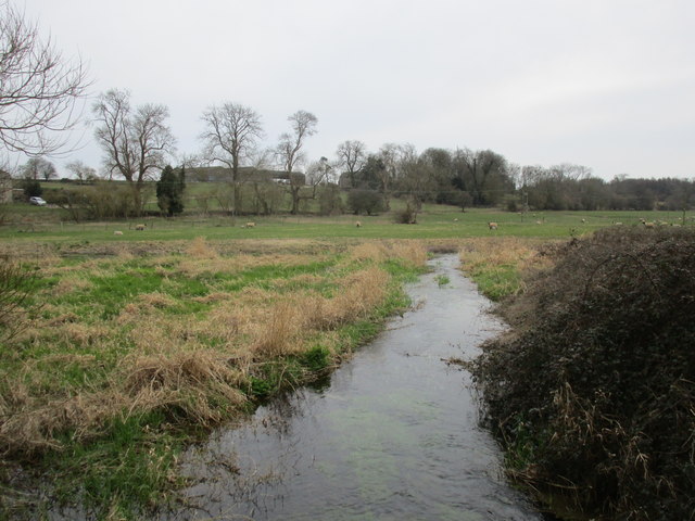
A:
{"type": "Polygon", "coordinates": [[[0,1],[0,143],[5,152],[37,156],[63,147],[88,85],[80,60],[65,60],[50,38],[39,38],[24,13],[0,1]]]}

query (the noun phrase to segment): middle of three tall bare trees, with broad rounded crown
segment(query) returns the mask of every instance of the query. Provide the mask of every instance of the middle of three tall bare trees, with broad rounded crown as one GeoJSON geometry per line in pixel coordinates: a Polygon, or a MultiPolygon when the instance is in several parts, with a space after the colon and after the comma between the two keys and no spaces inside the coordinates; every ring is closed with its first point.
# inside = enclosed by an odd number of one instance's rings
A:
{"type": "Polygon", "coordinates": [[[202,116],[205,130],[201,139],[205,156],[211,163],[222,163],[231,169],[233,209],[241,209],[241,170],[244,162],[254,156],[256,143],[263,137],[261,116],[249,106],[225,103],[211,106],[202,116]]]}

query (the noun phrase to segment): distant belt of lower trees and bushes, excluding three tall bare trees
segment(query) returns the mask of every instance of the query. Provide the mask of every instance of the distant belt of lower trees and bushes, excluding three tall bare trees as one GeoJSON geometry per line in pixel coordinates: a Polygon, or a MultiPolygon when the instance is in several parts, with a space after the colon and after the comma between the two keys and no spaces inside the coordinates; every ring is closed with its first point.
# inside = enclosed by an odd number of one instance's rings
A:
{"type": "MultiPolygon", "coordinates": [[[[490,150],[427,149],[418,153],[410,144],[386,144],[366,152],[359,141],[345,141],[336,157],[311,163],[305,173],[242,167],[235,181],[229,168],[191,167],[194,189],[186,190],[184,169],[162,170],[157,182],[112,182],[91,177],[61,183],[43,194],[49,203],[65,208],[71,218],[109,219],[141,215],[153,201],[165,215],[185,209],[210,214],[273,215],[280,213],[341,213],[374,215],[391,208],[393,198],[405,201],[403,223],[415,223],[422,203],[501,207],[529,211],[683,211],[693,206],[691,180],[629,179],[610,181],[593,177],[583,166],[563,164],[544,168],[509,164],[490,150]],[[172,192],[172,176],[181,176],[172,192]],[[214,180],[216,182],[205,182],[214,180]],[[159,187],[159,188],[157,188],[159,187]],[[134,194],[137,190],[137,195],[134,194]]],[[[38,182],[23,181],[28,195],[41,195],[38,182]],[[30,189],[29,189],[30,187],[30,189]]]]}

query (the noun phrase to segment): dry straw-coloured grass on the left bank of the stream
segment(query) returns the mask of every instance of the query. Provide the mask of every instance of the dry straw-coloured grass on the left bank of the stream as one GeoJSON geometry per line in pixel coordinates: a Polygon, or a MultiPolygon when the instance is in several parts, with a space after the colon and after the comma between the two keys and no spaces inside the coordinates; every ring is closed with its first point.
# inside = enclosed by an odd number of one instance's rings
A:
{"type": "MultiPolygon", "coordinates": [[[[27,319],[29,328],[16,340],[40,356],[20,371],[0,372],[5,379],[0,393],[0,455],[60,449],[59,434],[68,431],[78,441],[93,439],[110,420],[124,414],[165,409],[206,425],[229,418],[243,408],[240,390],[248,389],[258,365],[300,354],[317,343],[340,353],[336,329],[366,318],[387,295],[390,277],[372,265],[375,260],[403,258],[417,265],[426,260],[417,241],[375,242],[355,246],[350,262],[326,272],[264,279],[263,284],[236,292],[211,283],[207,295],[190,297],[210,306],[207,310],[172,314],[172,307],[180,304],[167,294],[169,285],[176,284],[174,277],[312,265],[329,258],[327,249],[313,242],[309,253],[292,251],[307,244],[278,242],[263,244],[265,254],[228,255],[226,249],[231,246],[198,239],[179,244],[184,257],[169,253],[170,249],[159,256],[138,257],[136,246],[129,245],[118,257],[64,267],[52,259],[56,264],[47,274],[59,281],[46,295],[54,301],[41,316],[27,319]],[[355,266],[357,258],[366,264],[355,266]],[[117,316],[103,319],[101,310],[92,314],[84,305],[71,307],[70,298],[61,301],[72,292],[89,291],[91,278],[122,275],[124,260],[134,259],[139,266],[153,267],[164,280],[160,291],[134,296],[117,316]],[[354,271],[356,267],[362,269],[354,271]],[[349,275],[338,278],[345,272],[349,275]],[[315,291],[316,287],[336,289],[327,296],[315,291]],[[50,343],[63,351],[46,354],[50,343]],[[106,376],[102,353],[119,360],[108,368],[106,376]],[[61,381],[63,369],[83,370],[85,381],[61,381]]],[[[132,276],[138,276],[137,270],[132,276]]],[[[15,351],[13,355],[17,365],[20,354],[15,351]]]]}

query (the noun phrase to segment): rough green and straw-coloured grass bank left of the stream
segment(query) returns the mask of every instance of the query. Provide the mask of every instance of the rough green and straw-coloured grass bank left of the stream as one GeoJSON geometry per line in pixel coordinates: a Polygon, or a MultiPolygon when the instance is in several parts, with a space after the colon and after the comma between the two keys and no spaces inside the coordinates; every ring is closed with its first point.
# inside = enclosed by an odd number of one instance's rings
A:
{"type": "Polygon", "coordinates": [[[2,514],[40,518],[49,497],[147,517],[175,499],[187,443],[350,356],[426,260],[413,241],[236,246],[34,259],[27,327],[0,346],[2,514]]]}

